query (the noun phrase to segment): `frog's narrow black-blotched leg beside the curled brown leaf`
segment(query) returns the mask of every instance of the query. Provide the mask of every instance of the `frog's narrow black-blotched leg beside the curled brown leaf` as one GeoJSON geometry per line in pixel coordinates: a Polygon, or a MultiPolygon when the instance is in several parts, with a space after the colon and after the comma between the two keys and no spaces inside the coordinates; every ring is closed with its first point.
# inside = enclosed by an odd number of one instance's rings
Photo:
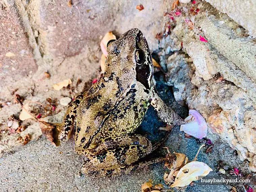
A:
{"type": "Polygon", "coordinates": [[[74,100],[69,104],[67,111],[65,113],[65,116],[63,118],[62,126],[61,126],[61,132],[59,134],[59,140],[65,141],[68,140],[73,127],[74,127],[74,120],[75,120],[75,114],[76,109],[78,105],[80,104],[81,100],[83,99],[84,94],[81,93],[77,95],[74,100]]]}

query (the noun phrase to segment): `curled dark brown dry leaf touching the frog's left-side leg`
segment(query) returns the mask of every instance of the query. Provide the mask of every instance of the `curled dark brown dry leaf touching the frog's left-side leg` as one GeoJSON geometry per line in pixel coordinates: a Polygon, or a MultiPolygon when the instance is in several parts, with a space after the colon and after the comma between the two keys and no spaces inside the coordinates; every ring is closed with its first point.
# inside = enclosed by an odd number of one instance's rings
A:
{"type": "Polygon", "coordinates": [[[60,145],[60,140],[58,138],[60,132],[60,125],[54,123],[48,123],[40,121],[40,128],[44,136],[55,146],[60,145]]]}

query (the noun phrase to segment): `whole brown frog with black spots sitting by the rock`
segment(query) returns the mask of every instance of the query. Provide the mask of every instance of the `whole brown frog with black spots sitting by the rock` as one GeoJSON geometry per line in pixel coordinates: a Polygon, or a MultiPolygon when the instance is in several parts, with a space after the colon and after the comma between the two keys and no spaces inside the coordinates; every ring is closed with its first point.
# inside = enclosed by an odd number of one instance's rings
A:
{"type": "Polygon", "coordinates": [[[75,151],[88,158],[82,172],[94,177],[130,172],[154,150],[145,136],[134,134],[149,104],[169,125],[184,123],[156,93],[151,53],[141,31],[130,29],[109,43],[107,53],[103,76],[69,105],[59,135],[64,141],[73,129],[75,151]]]}

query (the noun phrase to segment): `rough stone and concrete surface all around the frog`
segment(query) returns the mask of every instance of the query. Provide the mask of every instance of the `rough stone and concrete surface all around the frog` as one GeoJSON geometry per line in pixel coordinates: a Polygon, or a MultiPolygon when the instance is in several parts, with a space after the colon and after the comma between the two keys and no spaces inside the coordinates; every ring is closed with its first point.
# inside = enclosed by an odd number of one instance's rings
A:
{"type": "MultiPolygon", "coordinates": [[[[16,94],[24,104],[54,106],[43,120],[61,123],[66,107],[60,99],[73,98],[99,76],[102,36],[113,31],[118,37],[133,27],[143,32],[162,67],[155,68],[154,77],[163,100],[182,118],[188,109],[205,118],[213,149],[206,151],[206,145],[198,161],[213,169],[209,176],[220,177],[220,168],[229,175],[237,167],[255,177],[255,2],[207,2],[174,7],[171,0],[0,1],[0,191],[140,191],[149,179],[164,184],[163,163],[113,178],[84,177],[79,169],[85,157],[74,152],[72,138],[55,147],[31,119],[19,121],[22,131],[8,127],[9,117],[18,119],[21,112],[16,94]],[[145,9],[138,11],[139,4],[145,9]],[[69,78],[70,86],[53,89],[69,78]],[[23,146],[27,134],[31,138],[23,146]]],[[[150,108],[138,132],[155,142],[165,137],[160,126],[150,108]]],[[[204,143],[175,127],[162,147],[192,160],[204,143]]],[[[229,192],[231,187],[195,182],[174,191],[229,192]]]]}

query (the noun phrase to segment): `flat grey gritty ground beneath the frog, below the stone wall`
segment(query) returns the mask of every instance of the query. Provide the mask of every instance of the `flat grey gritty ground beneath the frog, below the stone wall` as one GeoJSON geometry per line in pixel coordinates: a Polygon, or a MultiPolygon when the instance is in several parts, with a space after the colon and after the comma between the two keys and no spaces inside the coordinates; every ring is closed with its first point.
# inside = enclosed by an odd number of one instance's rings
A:
{"type": "MultiPolygon", "coordinates": [[[[161,80],[158,79],[158,80],[161,80]]],[[[157,81],[157,88],[160,95],[168,104],[175,108],[170,87],[157,81]],[[166,94],[167,92],[167,94],[166,94]]],[[[186,116],[187,109],[176,109],[181,116],[186,116]],[[180,109],[180,110],[179,110],[180,109]]],[[[153,108],[150,108],[139,127],[140,132],[148,133],[151,140],[159,139],[163,136],[157,127],[161,126],[153,108]],[[157,138],[159,137],[159,138],[157,138]]],[[[198,161],[208,164],[213,171],[210,176],[220,176],[218,167],[223,161],[227,169],[232,167],[243,167],[242,163],[227,145],[218,138],[212,138],[214,148],[211,153],[205,153],[203,148],[198,156],[198,161]],[[228,158],[227,158],[228,157],[228,158]]],[[[185,138],[184,133],[179,131],[179,127],[173,129],[171,135],[163,146],[169,147],[171,151],[185,153],[192,160],[205,140],[185,138]]],[[[163,182],[163,163],[146,166],[127,175],[119,175],[112,178],[93,179],[81,176],[79,173],[84,157],[74,152],[74,140],[63,143],[59,147],[53,146],[44,136],[35,141],[30,141],[27,145],[21,146],[14,151],[5,153],[0,159],[1,185],[0,191],[23,192],[23,191],[140,191],[143,183],[151,179],[155,184],[163,182]]],[[[228,172],[228,171],[227,171],[228,172]]],[[[167,188],[167,186],[165,186],[167,188]]],[[[189,186],[177,191],[202,191],[202,192],[228,192],[230,186],[225,185],[197,185],[189,186]]]]}

